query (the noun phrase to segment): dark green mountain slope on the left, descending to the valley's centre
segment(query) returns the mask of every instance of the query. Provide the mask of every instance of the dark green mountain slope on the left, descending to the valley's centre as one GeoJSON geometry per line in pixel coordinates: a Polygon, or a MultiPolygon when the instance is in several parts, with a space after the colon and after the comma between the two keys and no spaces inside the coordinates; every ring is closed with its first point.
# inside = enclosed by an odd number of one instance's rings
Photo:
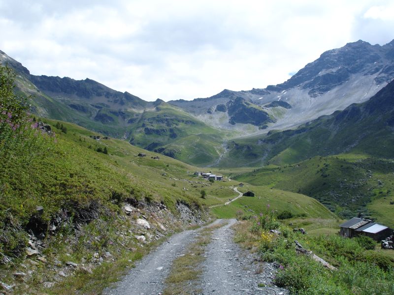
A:
{"type": "Polygon", "coordinates": [[[0,52],[0,63],[16,71],[16,91],[32,95],[31,111],[38,116],[73,122],[198,165],[214,163],[223,150],[224,137],[229,136],[160,99],[147,102],[91,79],[34,76],[4,52],[0,52]],[[190,147],[196,141],[183,140],[190,136],[209,141],[204,148],[190,147]],[[188,152],[191,149],[193,154],[188,152]]]}

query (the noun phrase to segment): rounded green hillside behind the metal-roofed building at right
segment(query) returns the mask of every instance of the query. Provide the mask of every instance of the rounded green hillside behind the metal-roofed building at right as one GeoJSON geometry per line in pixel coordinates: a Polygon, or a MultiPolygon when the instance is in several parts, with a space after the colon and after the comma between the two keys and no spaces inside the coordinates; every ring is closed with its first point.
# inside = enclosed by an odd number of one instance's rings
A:
{"type": "Polygon", "coordinates": [[[305,194],[345,218],[362,212],[393,226],[394,213],[379,205],[390,206],[393,199],[393,171],[393,160],[342,154],[313,157],[294,165],[271,165],[236,179],[305,194]]]}

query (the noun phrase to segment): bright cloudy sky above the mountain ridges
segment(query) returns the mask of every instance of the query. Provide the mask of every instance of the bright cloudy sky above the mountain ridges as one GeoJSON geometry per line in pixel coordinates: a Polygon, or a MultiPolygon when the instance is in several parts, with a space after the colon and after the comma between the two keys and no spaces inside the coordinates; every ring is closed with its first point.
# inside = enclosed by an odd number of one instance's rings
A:
{"type": "Polygon", "coordinates": [[[394,39],[393,0],[0,0],[0,50],[32,74],[145,100],[265,88],[359,39],[394,39]]]}

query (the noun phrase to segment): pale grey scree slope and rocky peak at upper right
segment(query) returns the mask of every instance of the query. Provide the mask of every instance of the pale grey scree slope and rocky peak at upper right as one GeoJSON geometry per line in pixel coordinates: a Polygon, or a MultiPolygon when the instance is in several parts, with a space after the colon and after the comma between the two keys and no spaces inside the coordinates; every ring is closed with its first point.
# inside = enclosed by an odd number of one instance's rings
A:
{"type": "Polygon", "coordinates": [[[359,40],[323,53],[288,81],[276,86],[248,91],[226,89],[209,98],[169,103],[198,116],[207,124],[239,129],[242,127],[240,124],[228,124],[230,114],[218,111],[217,106],[242,97],[263,107],[264,112],[274,118],[266,122],[264,131],[259,131],[259,124],[248,122],[256,126],[247,129],[249,134],[262,133],[295,127],[336,110],[343,110],[352,103],[366,101],[393,78],[394,40],[383,46],[359,40]],[[287,104],[279,105],[279,101],[287,104]]]}

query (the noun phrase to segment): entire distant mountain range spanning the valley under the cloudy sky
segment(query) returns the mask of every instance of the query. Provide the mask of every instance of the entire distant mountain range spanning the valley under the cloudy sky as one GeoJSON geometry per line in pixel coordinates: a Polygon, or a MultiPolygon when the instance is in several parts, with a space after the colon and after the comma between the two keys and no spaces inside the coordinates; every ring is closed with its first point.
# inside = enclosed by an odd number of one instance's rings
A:
{"type": "Polygon", "coordinates": [[[393,90],[385,87],[394,79],[394,40],[383,46],[348,43],[323,53],[282,84],[225,89],[192,101],[147,102],[91,79],[31,75],[2,51],[0,62],[16,71],[16,91],[31,95],[34,114],[190,164],[259,166],[352,149],[392,154],[384,140],[392,136],[391,100],[382,97],[393,90]],[[377,98],[361,104],[381,89],[377,98]],[[374,148],[377,143],[382,148],[374,148]]]}

